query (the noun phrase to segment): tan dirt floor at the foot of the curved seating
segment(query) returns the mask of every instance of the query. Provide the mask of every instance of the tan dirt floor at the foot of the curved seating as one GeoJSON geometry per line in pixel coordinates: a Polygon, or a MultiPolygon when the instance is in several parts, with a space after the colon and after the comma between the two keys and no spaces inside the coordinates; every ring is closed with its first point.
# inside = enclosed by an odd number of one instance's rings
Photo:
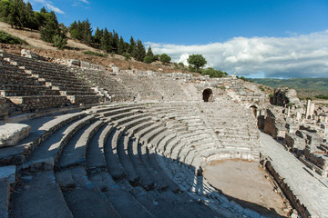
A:
{"type": "Polygon", "coordinates": [[[204,177],[228,198],[251,210],[271,217],[287,217],[288,202],[274,191],[271,177],[259,163],[213,162],[205,168],[204,177]]]}

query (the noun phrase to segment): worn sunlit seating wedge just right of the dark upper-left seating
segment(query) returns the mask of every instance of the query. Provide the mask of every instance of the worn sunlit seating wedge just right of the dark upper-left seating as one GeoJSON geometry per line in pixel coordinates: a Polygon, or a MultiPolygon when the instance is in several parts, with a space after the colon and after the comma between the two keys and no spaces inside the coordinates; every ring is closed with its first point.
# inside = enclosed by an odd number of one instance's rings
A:
{"type": "Polygon", "coordinates": [[[110,96],[111,102],[127,102],[132,101],[133,96],[127,89],[115,80],[114,75],[109,74],[107,71],[72,68],[71,71],[75,72],[77,76],[83,77],[105,95],[110,96]]]}

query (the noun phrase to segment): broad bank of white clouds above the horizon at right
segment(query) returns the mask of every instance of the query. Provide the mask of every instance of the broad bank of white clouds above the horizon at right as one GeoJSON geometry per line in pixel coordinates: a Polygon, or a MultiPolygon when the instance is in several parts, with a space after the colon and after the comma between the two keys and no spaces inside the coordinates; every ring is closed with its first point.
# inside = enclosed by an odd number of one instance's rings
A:
{"type": "Polygon", "coordinates": [[[291,37],[234,37],[208,45],[150,45],[155,54],[166,53],[187,64],[189,54],[202,54],[209,66],[240,75],[265,77],[327,77],[328,30],[291,37]]]}

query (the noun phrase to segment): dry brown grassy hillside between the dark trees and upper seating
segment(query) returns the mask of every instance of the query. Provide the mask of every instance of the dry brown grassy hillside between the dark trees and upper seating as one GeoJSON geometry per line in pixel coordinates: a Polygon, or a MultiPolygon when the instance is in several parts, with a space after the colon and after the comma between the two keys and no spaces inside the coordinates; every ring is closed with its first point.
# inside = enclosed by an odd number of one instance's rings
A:
{"type": "MultiPolygon", "coordinates": [[[[40,39],[40,34],[36,30],[29,29],[15,29],[11,28],[10,25],[0,22],[0,29],[5,33],[14,35],[25,40],[28,45],[5,45],[0,44],[0,48],[7,50],[9,53],[20,54],[20,50],[27,48],[31,51],[36,52],[36,54],[49,57],[50,59],[56,58],[66,58],[66,59],[79,59],[87,61],[92,64],[100,64],[108,67],[110,64],[115,64],[118,68],[123,70],[128,69],[138,69],[143,71],[161,71],[163,73],[169,72],[182,72],[186,69],[178,69],[174,64],[162,64],[160,62],[154,62],[151,64],[145,64],[142,62],[135,61],[133,58],[131,60],[126,60],[124,56],[118,54],[108,54],[108,57],[99,57],[95,55],[84,54],[86,51],[92,51],[97,53],[103,53],[101,50],[87,46],[74,40],[72,38],[67,38],[67,46],[64,50],[58,50],[56,47],[49,43],[46,43],[40,39]]],[[[187,72],[186,72],[187,73],[187,72]]]]}

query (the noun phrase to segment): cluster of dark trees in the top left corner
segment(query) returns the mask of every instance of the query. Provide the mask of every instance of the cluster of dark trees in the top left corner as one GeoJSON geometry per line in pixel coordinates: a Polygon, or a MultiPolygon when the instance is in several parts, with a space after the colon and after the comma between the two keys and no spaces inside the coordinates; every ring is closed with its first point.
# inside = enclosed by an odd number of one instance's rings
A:
{"type": "Polygon", "coordinates": [[[41,39],[53,43],[58,48],[63,48],[67,44],[64,25],[59,25],[55,12],[47,12],[45,7],[37,12],[33,11],[29,2],[1,0],[0,20],[12,27],[40,30],[41,39]]]}

